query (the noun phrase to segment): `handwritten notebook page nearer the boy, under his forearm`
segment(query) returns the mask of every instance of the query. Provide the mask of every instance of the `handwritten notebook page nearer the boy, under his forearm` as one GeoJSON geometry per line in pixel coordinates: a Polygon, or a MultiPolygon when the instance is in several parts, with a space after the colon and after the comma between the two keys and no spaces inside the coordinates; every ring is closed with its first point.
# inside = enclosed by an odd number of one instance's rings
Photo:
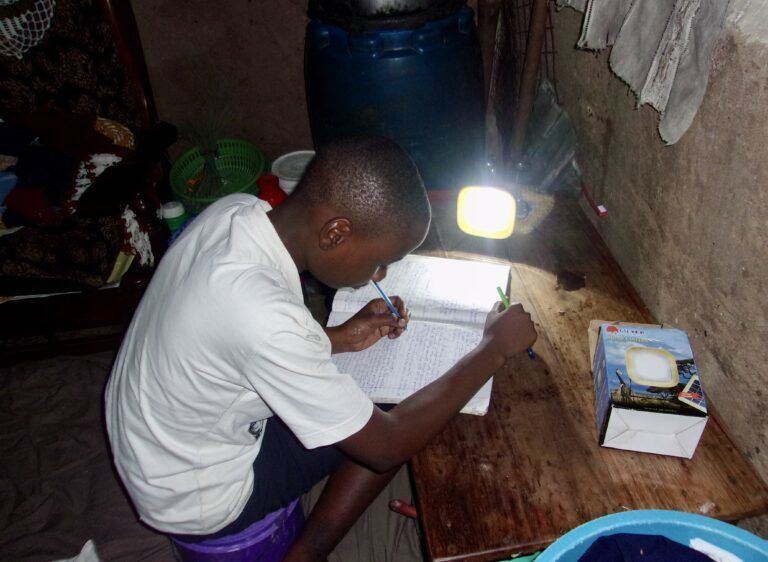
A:
{"type": "MultiPolygon", "coordinates": [[[[331,313],[343,322],[348,315],[331,313]]],[[[463,324],[412,321],[399,338],[382,338],[370,348],[333,356],[374,402],[398,403],[440,377],[480,342],[482,329],[463,324]]],[[[491,399],[492,379],[461,410],[483,415],[491,399]]]]}

